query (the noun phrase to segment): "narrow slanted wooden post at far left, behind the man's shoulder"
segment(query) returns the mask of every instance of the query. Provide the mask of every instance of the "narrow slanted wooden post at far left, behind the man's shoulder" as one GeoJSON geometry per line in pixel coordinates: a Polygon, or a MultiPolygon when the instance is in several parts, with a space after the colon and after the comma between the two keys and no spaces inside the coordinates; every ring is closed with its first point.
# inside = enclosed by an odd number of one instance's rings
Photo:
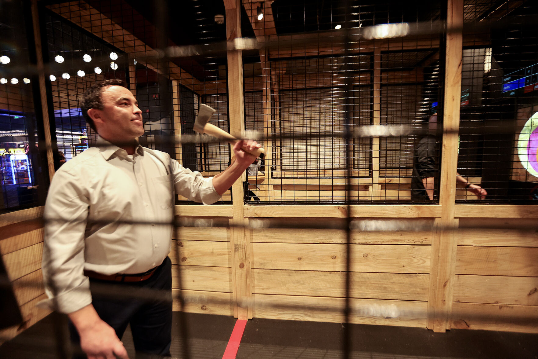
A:
{"type": "Polygon", "coordinates": [[[48,118],[47,89],[45,79],[45,67],[43,64],[43,52],[41,51],[41,33],[39,31],[39,13],[37,0],[32,0],[32,23],[34,29],[34,39],[36,42],[37,71],[39,76],[39,95],[41,97],[41,112],[43,112],[43,127],[45,130],[45,146],[47,147],[47,168],[48,177],[52,181],[54,176],[54,159],[52,157],[52,135],[51,124],[48,118]]]}

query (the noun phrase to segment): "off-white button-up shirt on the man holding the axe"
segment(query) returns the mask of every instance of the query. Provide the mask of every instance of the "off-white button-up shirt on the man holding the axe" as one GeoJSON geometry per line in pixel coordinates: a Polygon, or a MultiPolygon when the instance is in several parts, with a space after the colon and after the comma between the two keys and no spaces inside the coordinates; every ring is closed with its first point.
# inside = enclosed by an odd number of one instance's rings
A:
{"type": "Polygon", "coordinates": [[[170,251],[174,190],[196,202],[220,198],[213,178],[161,151],[134,155],[101,138],[63,164],[45,204],[43,276],[48,304],[71,313],[91,303],[84,270],[142,273],[170,251]]]}

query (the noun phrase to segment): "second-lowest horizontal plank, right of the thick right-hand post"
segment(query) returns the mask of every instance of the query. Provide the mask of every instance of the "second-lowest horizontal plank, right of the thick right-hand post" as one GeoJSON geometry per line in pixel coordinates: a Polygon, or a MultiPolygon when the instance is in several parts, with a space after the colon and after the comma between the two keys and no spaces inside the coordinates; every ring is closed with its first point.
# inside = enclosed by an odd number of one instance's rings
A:
{"type": "Polygon", "coordinates": [[[538,278],[458,274],[454,301],[538,306],[538,278]]]}

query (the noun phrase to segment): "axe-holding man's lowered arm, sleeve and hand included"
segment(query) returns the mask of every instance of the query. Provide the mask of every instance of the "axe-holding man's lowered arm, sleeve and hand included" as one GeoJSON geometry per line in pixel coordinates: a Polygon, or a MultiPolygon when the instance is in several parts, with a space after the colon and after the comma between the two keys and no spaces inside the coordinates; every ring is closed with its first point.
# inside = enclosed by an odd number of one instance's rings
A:
{"type": "Polygon", "coordinates": [[[89,194],[81,182],[67,171],[58,171],[47,195],[42,267],[48,304],[68,314],[90,359],[114,359],[112,353],[127,358],[114,329],[91,304],[89,281],[83,274],[89,194]]]}

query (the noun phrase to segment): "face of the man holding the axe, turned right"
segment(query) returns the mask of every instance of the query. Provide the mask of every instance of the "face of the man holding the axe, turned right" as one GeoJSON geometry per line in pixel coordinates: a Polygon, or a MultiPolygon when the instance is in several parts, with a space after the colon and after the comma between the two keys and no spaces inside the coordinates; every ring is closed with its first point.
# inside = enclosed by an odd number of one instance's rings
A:
{"type": "Polygon", "coordinates": [[[109,86],[101,92],[104,108],[99,111],[98,133],[111,142],[131,142],[144,134],[142,111],[131,91],[109,86]]]}

